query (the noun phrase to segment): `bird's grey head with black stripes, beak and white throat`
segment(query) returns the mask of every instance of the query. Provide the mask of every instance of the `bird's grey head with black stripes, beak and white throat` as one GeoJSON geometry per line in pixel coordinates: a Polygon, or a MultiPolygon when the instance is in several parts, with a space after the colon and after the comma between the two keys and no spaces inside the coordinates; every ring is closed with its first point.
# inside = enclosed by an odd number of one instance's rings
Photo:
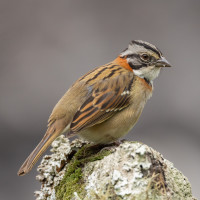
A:
{"type": "Polygon", "coordinates": [[[121,54],[127,60],[135,75],[152,81],[163,67],[171,67],[161,51],[154,45],[142,40],[132,41],[121,54]]]}

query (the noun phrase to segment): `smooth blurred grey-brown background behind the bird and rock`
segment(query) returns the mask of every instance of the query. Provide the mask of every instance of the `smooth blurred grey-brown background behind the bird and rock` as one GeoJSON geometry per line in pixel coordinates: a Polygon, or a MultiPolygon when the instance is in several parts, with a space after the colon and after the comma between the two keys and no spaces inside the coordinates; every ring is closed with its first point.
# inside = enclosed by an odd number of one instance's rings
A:
{"type": "Polygon", "coordinates": [[[160,153],[200,198],[200,1],[0,0],[0,199],[34,200],[36,167],[17,171],[52,108],[90,69],[133,39],[158,46],[173,68],[126,136],[160,153]]]}

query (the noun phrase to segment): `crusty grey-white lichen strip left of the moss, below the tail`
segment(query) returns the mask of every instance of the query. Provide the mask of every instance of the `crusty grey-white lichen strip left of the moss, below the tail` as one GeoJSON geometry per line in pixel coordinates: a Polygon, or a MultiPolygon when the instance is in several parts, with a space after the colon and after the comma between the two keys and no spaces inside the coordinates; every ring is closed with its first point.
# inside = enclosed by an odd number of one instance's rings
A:
{"type": "Polygon", "coordinates": [[[36,200],[55,200],[55,187],[64,176],[67,165],[64,163],[71,153],[69,140],[63,135],[52,143],[51,155],[45,155],[38,166],[40,173],[36,179],[42,183],[41,191],[36,191],[36,200]]]}

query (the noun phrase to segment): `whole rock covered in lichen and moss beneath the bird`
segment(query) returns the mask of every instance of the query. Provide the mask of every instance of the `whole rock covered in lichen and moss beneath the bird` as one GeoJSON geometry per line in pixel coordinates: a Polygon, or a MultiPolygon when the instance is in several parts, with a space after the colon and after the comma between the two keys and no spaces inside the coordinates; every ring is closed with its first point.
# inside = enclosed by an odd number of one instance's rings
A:
{"type": "Polygon", "coordinates": [[[194,200],[187,178],[138,142],[100,147],[60,136],[38,167],[37,200],[194,200]]]}

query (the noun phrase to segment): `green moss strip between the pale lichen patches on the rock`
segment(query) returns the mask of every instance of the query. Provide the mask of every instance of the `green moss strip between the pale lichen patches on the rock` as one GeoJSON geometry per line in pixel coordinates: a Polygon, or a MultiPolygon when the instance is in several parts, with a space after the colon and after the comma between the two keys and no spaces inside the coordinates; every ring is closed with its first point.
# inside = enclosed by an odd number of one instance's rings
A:
{"type": "Polygon", "coordinates": [[[92,146],[91,144],[80,148],[68,163],[62,181],[55,188],[56,199],[70,200],[74,196],[74,192],[77,192],[80,198],[84,198],[85,189],[84,180],[82,179],[82,168],[86,163],[101,160],[110,153],[109,150],[102,149],[102,146],[92,146]]]}

